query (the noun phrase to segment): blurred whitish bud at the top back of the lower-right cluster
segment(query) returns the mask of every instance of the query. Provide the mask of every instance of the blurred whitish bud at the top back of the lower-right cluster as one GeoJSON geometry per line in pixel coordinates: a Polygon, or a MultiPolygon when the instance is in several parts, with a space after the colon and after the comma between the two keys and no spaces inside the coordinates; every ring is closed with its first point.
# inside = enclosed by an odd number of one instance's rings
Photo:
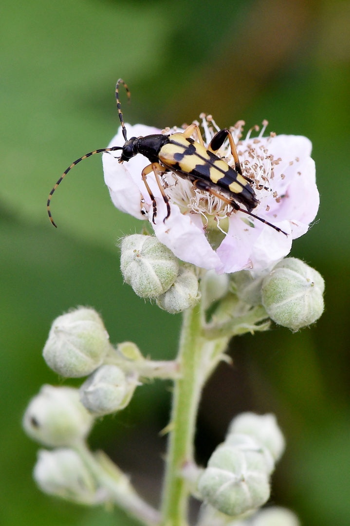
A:
{"type": "Polygon", "coordinates": [[[256,438],[270,451],[275,462],[283,454],[285,441],[274,414],[239,414],[230,424],[227,440],[235,433],[244,433],[256,438]]]}

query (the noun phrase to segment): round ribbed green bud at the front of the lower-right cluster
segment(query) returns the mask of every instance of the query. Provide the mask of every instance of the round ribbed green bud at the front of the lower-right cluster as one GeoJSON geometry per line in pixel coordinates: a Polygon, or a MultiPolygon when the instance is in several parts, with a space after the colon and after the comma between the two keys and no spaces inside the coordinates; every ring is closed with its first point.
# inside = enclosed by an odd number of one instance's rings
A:
{"type": "Polygon", "coordinates": [[[206,503],[236,517],[262,506],[270,496],[263,455],[223,443],[212,454],[199,478],[198,490],[206,503]]]}

